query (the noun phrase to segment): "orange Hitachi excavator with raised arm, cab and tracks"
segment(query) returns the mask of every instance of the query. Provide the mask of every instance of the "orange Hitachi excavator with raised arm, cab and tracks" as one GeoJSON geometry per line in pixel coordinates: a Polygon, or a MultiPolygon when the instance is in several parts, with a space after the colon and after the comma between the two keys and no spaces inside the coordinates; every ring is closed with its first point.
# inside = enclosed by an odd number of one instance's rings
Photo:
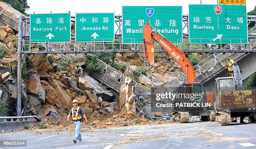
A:
{"type": "MultiPolygon", "coordinates": [[[[161,35],[161,33],[157,32],[156,29],[154,29],[154,32],[152,30],[154,27],[152,27],[149,23],[147,23],[144,27],[144,35],[143,35],[143,57],[146,58],[146,50],[148,53],[148,60],[151,65],[151,67],[154,68],[154,41],[158,42],[161,47],[166,50],[166,52],[173,57],[175,61],[179,63],[179,65],[182,67],[182,70],[186,76],[185,82],[182,83],[179,86],[179,93],[185,93],[185,94],[202,94],[202,98],[197,98],[190,102],[196,102],[196,103],[202,103],[205,104],[207,102],[205,91],[201,83],[195,82],[195,70],[190,63],[190,61],[187,59],[187,57],[184,55],[184,52],[177,48],[172,42],[170,42],[166,37],[161,35]]],[[[182,99],[180,100],[182,101],[182,99]]],[[[184,100],[183,100],[184,101],[184,100]]],[[[210,120],[215,121],[215,112],[214,110],[210,111],[205,108],[197,108],[195,110],[195,107],[189,109],[189,108],[176,108],[174,109],[174,112],[172,114],[173,121],[180,122],[180,123],[187,123],[189,122],[189,115],[190,116],[200,116],[200,119],[202,121],[210,120]]]]}

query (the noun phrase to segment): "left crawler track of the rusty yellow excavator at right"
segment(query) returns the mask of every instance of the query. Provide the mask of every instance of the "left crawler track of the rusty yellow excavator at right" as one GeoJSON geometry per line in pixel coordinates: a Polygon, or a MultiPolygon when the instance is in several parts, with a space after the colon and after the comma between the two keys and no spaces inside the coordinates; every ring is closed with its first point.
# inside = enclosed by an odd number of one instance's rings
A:
{"type": "Polygon", "coordinates": [[[219,126],[230,125],[231,123],[230,112],[216,112],[215,122],[219,126]]]}

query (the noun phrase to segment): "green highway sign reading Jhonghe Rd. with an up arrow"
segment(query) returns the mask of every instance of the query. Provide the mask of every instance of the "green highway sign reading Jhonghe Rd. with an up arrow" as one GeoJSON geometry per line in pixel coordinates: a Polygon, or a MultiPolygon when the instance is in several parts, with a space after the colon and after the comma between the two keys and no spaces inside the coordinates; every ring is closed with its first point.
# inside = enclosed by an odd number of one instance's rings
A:
{"type": "Polygon", "coordinates": [[[76,13],[76,42],[113,42],[114,13],[76,13]]]}

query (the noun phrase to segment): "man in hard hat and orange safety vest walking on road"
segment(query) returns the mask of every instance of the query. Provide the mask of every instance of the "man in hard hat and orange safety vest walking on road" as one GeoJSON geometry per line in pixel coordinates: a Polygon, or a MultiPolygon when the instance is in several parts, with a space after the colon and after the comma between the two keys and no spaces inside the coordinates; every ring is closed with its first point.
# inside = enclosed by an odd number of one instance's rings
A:
{"type": "Polygon", "coordinates": [[[80,127],[82,126],[82,118],[85,119],[85,122],[88,123],[88,120],[84,114],[84,110],[81,107],[78,107],[77,99],[73,100],[73,108],[69,111],[69,115],[67,117],[67,122],[69,122],[69,118],[72,116],[73,126],[75,129],[75,137],[73,139],[74,143],[82,142],[82,136],[80,133],[80,127]]]}

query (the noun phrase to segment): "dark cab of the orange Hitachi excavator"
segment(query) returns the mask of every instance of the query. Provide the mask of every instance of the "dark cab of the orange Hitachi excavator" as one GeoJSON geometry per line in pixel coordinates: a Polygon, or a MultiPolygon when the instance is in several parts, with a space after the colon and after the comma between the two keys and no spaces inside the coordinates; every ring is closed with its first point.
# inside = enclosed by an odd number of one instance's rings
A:
{"type": "MultiPolygon", "coordinates": [[[[182,83],[179,93],[189,94],[188,102],[206,102],[205,90],[201,83],[182,83]]],[[[182,96],[182,100],[184,100],[184,96],[182,96]]]]}

